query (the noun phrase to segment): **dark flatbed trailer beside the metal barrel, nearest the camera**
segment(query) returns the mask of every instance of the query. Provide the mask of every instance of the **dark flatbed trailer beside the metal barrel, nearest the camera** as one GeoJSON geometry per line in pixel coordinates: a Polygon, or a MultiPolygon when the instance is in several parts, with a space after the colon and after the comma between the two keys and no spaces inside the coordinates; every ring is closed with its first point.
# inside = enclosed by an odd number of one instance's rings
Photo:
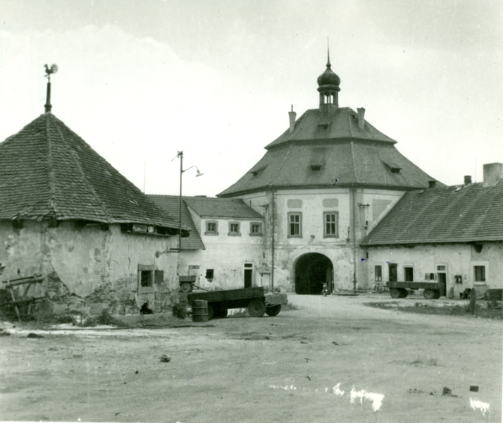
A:
{"type": "Polygon", "coordinates": [[[281,306],[286,305],[287,295],[282,293],[264,293],[263,287],[216,290],[204,293],[187,294],[192,306],[195,300],[208,302],[208,318],[227,317],[228,309],[247,308],[252,317],[278,316],[281,306]]]}

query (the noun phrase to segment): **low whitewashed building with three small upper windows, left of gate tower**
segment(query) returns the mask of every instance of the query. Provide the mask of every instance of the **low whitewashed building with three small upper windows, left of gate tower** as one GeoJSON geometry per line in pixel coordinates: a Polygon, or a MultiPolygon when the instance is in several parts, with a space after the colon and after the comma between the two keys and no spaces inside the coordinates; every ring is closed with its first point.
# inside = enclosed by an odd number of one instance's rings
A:
{"type": "MultiPolygon", "coordinates": [[[[178,216],[179,197],[149,195],[159,207],[178,216]]],[[[263,216],[242,200],[183,197],[182,223],[191,229],[182,238],[178,273],[195,276],[202,288],[269,288],[264,259],[263,216]]]]}

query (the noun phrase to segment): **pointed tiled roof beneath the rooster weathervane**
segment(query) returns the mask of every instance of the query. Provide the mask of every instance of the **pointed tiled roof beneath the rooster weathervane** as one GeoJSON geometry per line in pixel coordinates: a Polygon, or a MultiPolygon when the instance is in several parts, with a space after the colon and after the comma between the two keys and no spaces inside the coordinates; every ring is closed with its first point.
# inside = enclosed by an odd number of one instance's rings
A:
{"type": "Polygon", "coordinates": [[[0,219],[82,219],[178,228],[175,217],[51,113],[0,144],[0,196],[0,219]]]}

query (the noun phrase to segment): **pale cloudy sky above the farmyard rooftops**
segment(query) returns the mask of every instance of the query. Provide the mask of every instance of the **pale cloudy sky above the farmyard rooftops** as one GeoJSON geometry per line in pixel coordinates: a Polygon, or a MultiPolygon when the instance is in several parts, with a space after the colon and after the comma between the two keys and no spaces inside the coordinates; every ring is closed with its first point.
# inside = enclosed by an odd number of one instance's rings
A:
{"type": "Polygon", "coordinates": [[[503,163],[499,0],[0,0],[0,140],[52,113],[147,194],[215,196],[339,104],[447,185],[503,163]],[[195,178],[199,171],[204,173],[195,178]]]}

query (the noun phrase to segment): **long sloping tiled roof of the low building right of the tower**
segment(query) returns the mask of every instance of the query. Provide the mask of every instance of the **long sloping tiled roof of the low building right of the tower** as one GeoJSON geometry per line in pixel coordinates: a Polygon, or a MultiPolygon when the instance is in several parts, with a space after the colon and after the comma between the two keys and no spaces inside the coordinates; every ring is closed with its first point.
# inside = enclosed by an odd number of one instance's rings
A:
{"type": "Polygon", "coordinates": [[[406,192],[360,245],[503,241],[503,180],[406,192]]]}

